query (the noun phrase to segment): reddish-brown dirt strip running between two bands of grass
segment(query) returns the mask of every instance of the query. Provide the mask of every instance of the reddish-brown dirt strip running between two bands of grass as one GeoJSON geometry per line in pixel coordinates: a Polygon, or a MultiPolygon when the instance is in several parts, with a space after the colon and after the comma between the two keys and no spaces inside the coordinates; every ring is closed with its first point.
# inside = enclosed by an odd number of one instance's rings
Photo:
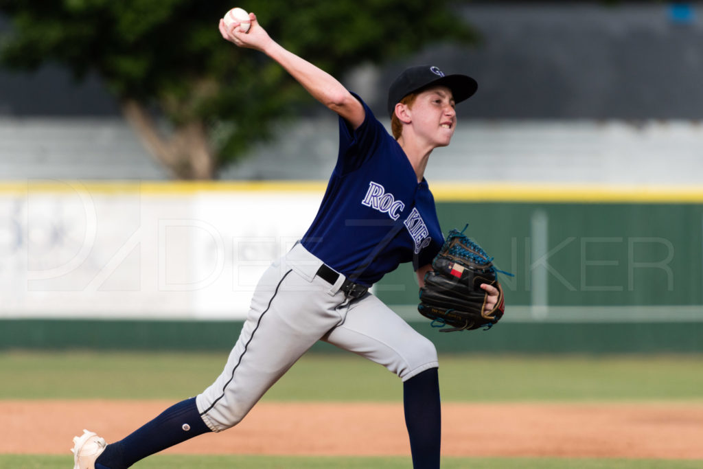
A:
{"type": "MultiPolygon", "coordinates": [[[[0,401],[0,453],[65,454],[83,428],[119,439],[172,401],[0,401]]],[[[407,455],[401,404],[257,405],[191,454],[407,455]]],[[[443,404],[446,456],[703,459],[699,404],[443,404]]]]}

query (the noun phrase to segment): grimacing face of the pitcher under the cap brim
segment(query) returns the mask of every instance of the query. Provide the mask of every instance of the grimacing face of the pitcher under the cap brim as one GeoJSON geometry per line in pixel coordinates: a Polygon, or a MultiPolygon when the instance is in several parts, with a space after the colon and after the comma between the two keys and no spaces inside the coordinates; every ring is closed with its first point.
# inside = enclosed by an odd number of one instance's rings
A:
{"type": "Polygon", "coordinates": [[[456,129],[456,111],[451,89],[435,86],[418,94],[412,107],[418,134],[434,146],[447,146],[456,129]]]}

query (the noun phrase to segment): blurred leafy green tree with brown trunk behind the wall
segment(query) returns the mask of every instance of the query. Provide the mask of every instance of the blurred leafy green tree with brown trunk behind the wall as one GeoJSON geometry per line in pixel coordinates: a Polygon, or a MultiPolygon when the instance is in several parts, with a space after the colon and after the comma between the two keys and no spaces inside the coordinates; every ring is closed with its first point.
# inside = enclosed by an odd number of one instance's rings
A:
{"type": "MultiPolygon", "coordinates": [[[[0,0],[12,27],[0,63],[96,73],[157,160],[179,179],[212,179],[271,124],[311,98],[263,54],[217,30],[231,4],[200,0],[0,0]],[[157,118],[155,118],[157,116],[157,118]],[[164,125],[163,123],[167,123],[164,125]]],[[[336,77],[437,41],[467,43],[450,1],[250,0],[273,39],[336,77]]]]}

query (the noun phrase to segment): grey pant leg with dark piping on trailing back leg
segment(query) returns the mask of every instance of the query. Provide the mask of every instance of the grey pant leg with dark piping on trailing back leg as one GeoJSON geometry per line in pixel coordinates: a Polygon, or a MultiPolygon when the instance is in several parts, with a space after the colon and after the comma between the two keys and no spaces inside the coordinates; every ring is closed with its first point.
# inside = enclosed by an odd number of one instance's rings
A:
{"type": "Polygon", "coordinates": [[[342,321],[341,306],[347,300],[342,292],[331,293],[331,285],[315,276],[320,264],[306,274],[284,261],[288,271],[283,281],[252,298],[250,316],[224,371],[197,398],[200,414],[212,430],[239,423],[302,354],[342,321]]]}

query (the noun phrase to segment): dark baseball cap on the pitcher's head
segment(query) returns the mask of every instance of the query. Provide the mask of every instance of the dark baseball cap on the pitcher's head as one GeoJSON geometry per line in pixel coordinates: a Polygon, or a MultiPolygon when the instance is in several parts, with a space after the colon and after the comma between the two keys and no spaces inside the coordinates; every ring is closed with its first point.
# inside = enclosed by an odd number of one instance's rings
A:
{"type": "Polygon", "coordinates": [[[432,65],[419,65],[406,68],[391,84],[388,90],[388,115],[393,116],[395,105],[408,96],[428,86],[446,86],[451,89],[454,102],[460,103],[470,98],[478,89],[476,80],[467,75],[444,75],[432,65]]]}

